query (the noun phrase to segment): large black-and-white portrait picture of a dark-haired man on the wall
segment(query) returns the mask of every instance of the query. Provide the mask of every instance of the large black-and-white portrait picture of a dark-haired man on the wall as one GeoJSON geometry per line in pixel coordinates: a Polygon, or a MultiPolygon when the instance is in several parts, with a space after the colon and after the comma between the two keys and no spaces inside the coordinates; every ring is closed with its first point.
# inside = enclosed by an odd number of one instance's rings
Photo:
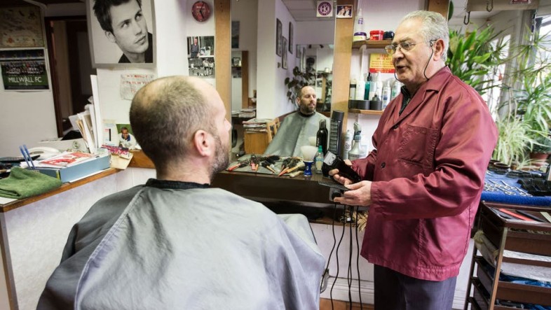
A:
{"type": "Polygon", "coordinates": [[[155,64],[155,20],[152,0],[130,0],[111,10],[109,1],[86,0],[88,38],[95,68],[113,66],[154,67],[155,64]],[[104,3],[104,8],[95,3],[104,3]],[[109,6],[109,7],[107,7],[109,6]],[[110,12],[109,15],[101,12],[110,12]],[[140,20],[135,19],[141,12],[140,20]],[[97,17],[99,16],[99,17],[97,17]],[[101,22],[100,22],[101,20],[101,22]],[[135,27],[123,27],[125,20],[135,22],[135,27]]]}

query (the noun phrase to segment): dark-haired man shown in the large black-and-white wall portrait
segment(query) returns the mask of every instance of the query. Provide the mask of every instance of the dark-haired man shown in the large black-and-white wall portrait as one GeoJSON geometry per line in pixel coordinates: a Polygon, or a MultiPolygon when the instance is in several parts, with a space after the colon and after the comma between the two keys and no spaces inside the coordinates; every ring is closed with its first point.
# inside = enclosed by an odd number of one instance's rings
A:
{"type": "Polygon", "coordinates": [[[94,13],[105,36],[123,51],[119,64],[153,62],[153,35],[147,32],[142,0],[95,0],[94,13]]]}

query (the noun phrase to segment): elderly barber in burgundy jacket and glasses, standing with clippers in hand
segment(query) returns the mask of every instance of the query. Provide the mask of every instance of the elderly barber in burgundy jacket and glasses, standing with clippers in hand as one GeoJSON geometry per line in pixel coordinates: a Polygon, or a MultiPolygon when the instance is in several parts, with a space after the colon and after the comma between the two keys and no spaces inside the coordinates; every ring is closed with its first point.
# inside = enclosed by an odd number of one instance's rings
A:
{"type": "MultiPolygon", "coordinates": [[[[498,132],[479,94],[445,65],[442,15],[406,15],[392,45],[401,94],[385,109],[362,176],[335,201],[369,206],[362,256],[374,264],[375,309],[451,309],[498,132]]],[[[350,162],[348,162],[350,164],[350,162]]]]}

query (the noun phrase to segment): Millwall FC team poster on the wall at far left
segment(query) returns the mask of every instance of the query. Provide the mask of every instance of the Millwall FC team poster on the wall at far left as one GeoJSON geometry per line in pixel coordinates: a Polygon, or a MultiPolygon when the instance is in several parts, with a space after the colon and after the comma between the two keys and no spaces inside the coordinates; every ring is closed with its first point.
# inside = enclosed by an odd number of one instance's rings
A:
{"type": "Polygon", "coordinates": [[[48,90],[44,49],[0,50],[4,90],[48,90]]]}

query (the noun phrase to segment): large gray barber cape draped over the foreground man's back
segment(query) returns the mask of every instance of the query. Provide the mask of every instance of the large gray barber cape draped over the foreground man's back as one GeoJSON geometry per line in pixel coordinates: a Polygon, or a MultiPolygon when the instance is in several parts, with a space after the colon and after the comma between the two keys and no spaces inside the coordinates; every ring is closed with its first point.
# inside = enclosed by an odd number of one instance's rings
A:
{"type": "Polygon", "coordinates": [[[74,225],[37,309],[319,309],[324,265],[304,216],[150,179],[74,225]]]}

